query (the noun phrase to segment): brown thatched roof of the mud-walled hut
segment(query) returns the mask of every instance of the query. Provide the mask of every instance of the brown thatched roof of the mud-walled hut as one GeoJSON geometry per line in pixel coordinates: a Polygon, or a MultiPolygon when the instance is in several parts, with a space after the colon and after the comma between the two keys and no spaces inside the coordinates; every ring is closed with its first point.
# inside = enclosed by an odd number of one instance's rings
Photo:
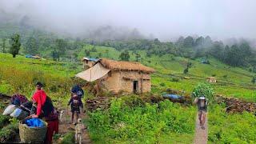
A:
{"type": "Polygon", "coordinates": [[[101,62],[102,66],[110,70],[142,71],[144,73],[154,72],[154,69],[147,66],[143,66],[139,62],[118,62],[106,58],[102,58],[99,62],[101,62]]]}

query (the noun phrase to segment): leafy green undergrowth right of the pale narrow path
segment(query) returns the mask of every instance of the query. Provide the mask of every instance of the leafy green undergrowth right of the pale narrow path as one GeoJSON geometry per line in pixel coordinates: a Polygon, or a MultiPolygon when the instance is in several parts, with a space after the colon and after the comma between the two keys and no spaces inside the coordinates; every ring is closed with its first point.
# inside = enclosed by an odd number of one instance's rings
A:
{"type": "Polygon", "coordinates": [[[226,114],[224,107],[211,106],[208,114],[209,138],[212,143],[255,143],[254,114],[226,114]]]}

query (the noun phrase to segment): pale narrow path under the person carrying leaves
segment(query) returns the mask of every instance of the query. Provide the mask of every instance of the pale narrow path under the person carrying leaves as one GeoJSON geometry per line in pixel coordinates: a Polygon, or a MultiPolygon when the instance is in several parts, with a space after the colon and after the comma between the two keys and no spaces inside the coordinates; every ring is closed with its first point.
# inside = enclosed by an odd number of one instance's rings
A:
{"type": "Polygon", "coordinates": [[[206,144],[207,143],[207,140],[208,140],[207,114],[206,114],[205,128],[206,128],[205,130],[202,130],[202,128],[200,126],[200,122],[198,120],[198,116],[197,116],[196,127],[195,127],[195,136],[194,136],[194,144],[206,144]]]}

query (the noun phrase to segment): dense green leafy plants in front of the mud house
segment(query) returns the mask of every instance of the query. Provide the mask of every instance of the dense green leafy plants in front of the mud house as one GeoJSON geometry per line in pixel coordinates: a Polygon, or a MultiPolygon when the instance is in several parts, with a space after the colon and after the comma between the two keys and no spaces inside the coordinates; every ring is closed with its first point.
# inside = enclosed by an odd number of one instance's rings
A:
{"type": "Polygon", "coordinates": [[[194,133],[193,107],[183,108],[168,100],[141,105],[139,98],[131,99],[115,99],[109,110],[89,114],[87,123],[94,141],[110,138],[113,142],[154,143],[159,142],[163,133],[194,133]]]}

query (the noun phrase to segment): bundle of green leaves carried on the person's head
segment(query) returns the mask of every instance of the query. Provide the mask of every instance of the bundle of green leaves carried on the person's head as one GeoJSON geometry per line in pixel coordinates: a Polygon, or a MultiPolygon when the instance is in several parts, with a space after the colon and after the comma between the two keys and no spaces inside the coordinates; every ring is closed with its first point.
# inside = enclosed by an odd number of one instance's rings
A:
{"type": "Polygon", "coordinates": [[[205,96],[208,100],[214,100],[214,89],[207,83],[199,83],[198,86],[194,87],[192,96],[198,98],[205,96]]]}

